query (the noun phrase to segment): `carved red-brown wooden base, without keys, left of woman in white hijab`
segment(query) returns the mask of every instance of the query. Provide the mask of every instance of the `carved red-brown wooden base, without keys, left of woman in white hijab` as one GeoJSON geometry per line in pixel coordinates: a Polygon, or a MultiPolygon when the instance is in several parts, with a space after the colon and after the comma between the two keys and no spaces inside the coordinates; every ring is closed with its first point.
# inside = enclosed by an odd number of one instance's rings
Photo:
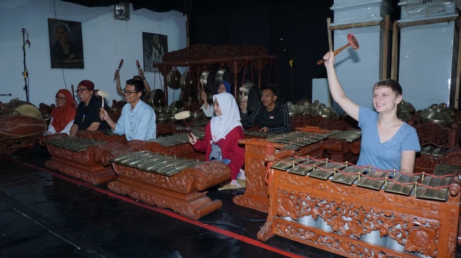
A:
{"type": "Polygon", "coordinates": [[[112,164],[119,176],[109,183],[109,190],[133,199],[172,209],[191,219],[210,214],[222,207],[221,200],[212,201],[205,189],[230,178],[230,168],[219,161],[210,161],[168,177],[138,168],[112,164]]]}

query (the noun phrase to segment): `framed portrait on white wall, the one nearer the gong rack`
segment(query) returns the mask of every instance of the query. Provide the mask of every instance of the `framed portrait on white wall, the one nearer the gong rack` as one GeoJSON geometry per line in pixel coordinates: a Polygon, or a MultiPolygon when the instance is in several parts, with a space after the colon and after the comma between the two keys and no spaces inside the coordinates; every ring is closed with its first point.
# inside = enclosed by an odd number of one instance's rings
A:
{"type": "Polygon", "coordinates": [[[143,32],[143,59],[145,72],[158,72],[152,64],[162,63],[163,56],[168,53],[167,35],[143,32]]]}

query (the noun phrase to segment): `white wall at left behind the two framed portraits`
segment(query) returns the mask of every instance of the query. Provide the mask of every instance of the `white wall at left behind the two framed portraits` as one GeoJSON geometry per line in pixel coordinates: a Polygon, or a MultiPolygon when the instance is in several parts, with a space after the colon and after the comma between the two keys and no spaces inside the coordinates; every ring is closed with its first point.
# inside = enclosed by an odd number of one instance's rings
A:
{"type": "MultiPolygon", "coordinates": [[[[61,88],[71,90],[81,80],[95,82],[95,88],[108,92],[112,99],[123,100],[116,94],[114,71],[120,59],[122,88],[124,81],[138,74],[136,60],[143,63],[142,32],[168,36],[168,50],[186,47],[186,18],[177,11],[155,13],[147,9],[133,11],[130,20],[115,20],[114,7],[86,7],[59,0],[1,0],[0,1],[0,102],[13,98],[26,100],[23,90],[23,33],[28,31],[30,48],[25,48],[29,73],[29,101],[53,104],[61,88]],[[54,15],[56,11],[56,16],[54,15]],[[84,69],[52,69],[49,57],[48,18],[82,23],[84,69]]],[[[145,73],[150,87],[163,85],[160,73],[145,73]],[[155,76],[154,76],[155,75],[155,76]],[[154,80],[154,78],[156,78],[154,80]]],[[[168,103],[179,99],[180,90],[169,89],[168,103]],[[172,99],[174,95],[174,99],[172,99]]]]}

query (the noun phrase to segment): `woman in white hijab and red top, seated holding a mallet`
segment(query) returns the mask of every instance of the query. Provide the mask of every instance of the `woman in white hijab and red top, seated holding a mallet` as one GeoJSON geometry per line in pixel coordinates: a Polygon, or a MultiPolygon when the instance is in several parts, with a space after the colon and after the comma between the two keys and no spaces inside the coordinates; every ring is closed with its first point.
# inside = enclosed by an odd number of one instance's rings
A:
{"type": "Polygon", "coordinates": [[[237,176],[245,161],[245,149],[239,146],[244,139],[244,130],[240,123],[239,107],[230,93],[223,92],[213,96],[215,116],[205,127],[203,140],[196,135],[189,136],[193,149],[205,152],[205,160],[220,160],[231,169],[231,185],[240,186],[237,176]]]}

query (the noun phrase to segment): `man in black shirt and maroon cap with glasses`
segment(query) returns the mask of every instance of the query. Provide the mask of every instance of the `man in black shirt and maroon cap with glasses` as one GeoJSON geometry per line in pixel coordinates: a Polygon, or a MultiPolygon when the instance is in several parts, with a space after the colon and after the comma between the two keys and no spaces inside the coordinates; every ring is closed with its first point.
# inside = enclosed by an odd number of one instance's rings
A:
{"type": "Polygon", "coordinates": [[[80,98],[76,117],[73,119],[71,137],[75,137],[79,130],[107,130],[106,122],[101,123],[100,106],[102,102],[95,97],[95,84],[90,80],[78,83],[76,93],[80,98]]]}

